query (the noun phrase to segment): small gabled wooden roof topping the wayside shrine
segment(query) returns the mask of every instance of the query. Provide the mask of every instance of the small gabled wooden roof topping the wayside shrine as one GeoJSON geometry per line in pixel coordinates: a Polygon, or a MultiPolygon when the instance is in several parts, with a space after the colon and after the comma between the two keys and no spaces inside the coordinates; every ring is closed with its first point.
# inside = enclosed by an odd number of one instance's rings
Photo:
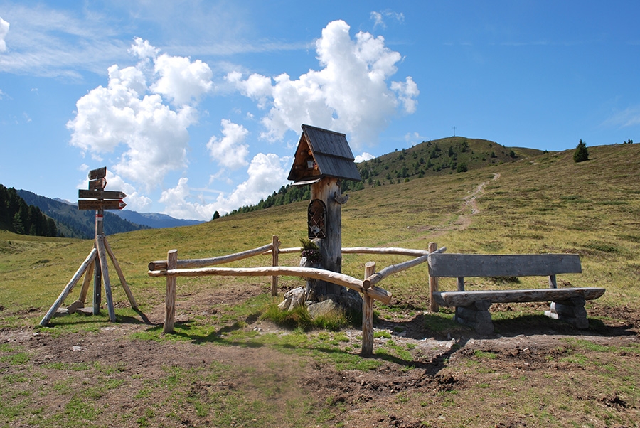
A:
{"type": "Polygon", "coordinates": [[[289,180],[299,185],[324,177],[361,181],[354,159],[345,134],[302,125],[289,180]]]}

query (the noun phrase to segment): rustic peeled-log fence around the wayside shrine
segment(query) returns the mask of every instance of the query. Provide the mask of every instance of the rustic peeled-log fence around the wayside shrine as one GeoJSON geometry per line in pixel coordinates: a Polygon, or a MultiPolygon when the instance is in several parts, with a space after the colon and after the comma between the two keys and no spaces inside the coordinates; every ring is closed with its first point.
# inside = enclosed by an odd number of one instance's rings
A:
{"type": "MultiPolygon", "coordinates": [[[[149,263],[150,277],[166,277],[166,298],[164,312],[165,333],[174,331],[174,318],[176,314],[176,284],[178,277],[203,277],[209,275],[233,276],[233,277],[272,277],[271,294],[277,296],[278,276],[304,277],[321,279],[322,281],[342,285],[349,289],[359,291],[363,294],[363,337],[361,355],[368,356],[373,353],[373,299],[388,304],[391,301],[391,293],[385,289],[377,287],[375,284],[386,277],[402,272],[403,270],[415,267],[427,261],[429,250],[412,250],[407,248],[371,248],[371,247],[351,247],[342,248],[345,254],[379,254],[379,255],[405,255],[415,257],[413,260],[393,264],[385,267],[380,272],[375,272],[375,262],[367,262],[365,265],[364,279],[357,279],[346,274],[331,272],[313,267],[287,267],[278,265],[279,254],[289,254],[301,252],[300,247],[280,248],[277,236],[273,237],[270,244],[262,247],[235,254],[220,257],[210,257],[207,259],[178,260],[178,250],[169,250],[166,260],[157,260],[149,263]],[[271,267],[211,267],[216,264],[225,264],[236,260],[246,259],[257,255],[271,255],[271,267]]],[[[430,249],[434,245],[430,246],[430,249]]],[[[445,247],[432,252],[444,252],[445,247]]],[[[431,296],[431,293],[430,293],[431,296]]]]}

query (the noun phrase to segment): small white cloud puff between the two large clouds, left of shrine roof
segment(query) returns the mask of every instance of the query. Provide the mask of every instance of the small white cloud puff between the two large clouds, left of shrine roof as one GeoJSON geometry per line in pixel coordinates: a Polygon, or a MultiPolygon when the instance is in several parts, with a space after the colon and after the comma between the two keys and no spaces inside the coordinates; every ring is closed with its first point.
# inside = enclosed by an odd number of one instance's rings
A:
{"type": "Polygon", "coordinates": [[[231,169],[247,165],[249,146],[244,142],[249,131],[228,119],[222,119],[220,124],[223,127],[224,137],[218,139],[213,136],[207,143],[211,158],[218,161],[218,164],[231,169]]]}

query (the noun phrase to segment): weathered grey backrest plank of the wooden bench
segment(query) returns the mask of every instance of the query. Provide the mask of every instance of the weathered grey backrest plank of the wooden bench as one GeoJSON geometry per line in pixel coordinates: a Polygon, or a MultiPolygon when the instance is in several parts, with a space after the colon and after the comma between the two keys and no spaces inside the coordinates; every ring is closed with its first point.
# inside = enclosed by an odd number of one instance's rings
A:
{"type": "Polygon", "coordinates": [[[555,274],[580,274],[577,254],[447,254],[428,257],[432,277],[544,277],[555,274]]]}

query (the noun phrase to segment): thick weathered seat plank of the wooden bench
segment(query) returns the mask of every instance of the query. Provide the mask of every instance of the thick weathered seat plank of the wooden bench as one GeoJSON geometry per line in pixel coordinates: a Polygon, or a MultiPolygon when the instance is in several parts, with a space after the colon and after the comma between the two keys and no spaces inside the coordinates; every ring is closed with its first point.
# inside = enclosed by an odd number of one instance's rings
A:
{"type": "Polygon", "coordinates": [[[582,297],[585,300],[593,300],[602,296],[604,291],[604,288],[595,287],[491,291],[441,291],[434,293],[433,296],[440,306],[469,306],[475,301],[491,301],[491,303],[565,301],[572,297],[582,297]]]}

